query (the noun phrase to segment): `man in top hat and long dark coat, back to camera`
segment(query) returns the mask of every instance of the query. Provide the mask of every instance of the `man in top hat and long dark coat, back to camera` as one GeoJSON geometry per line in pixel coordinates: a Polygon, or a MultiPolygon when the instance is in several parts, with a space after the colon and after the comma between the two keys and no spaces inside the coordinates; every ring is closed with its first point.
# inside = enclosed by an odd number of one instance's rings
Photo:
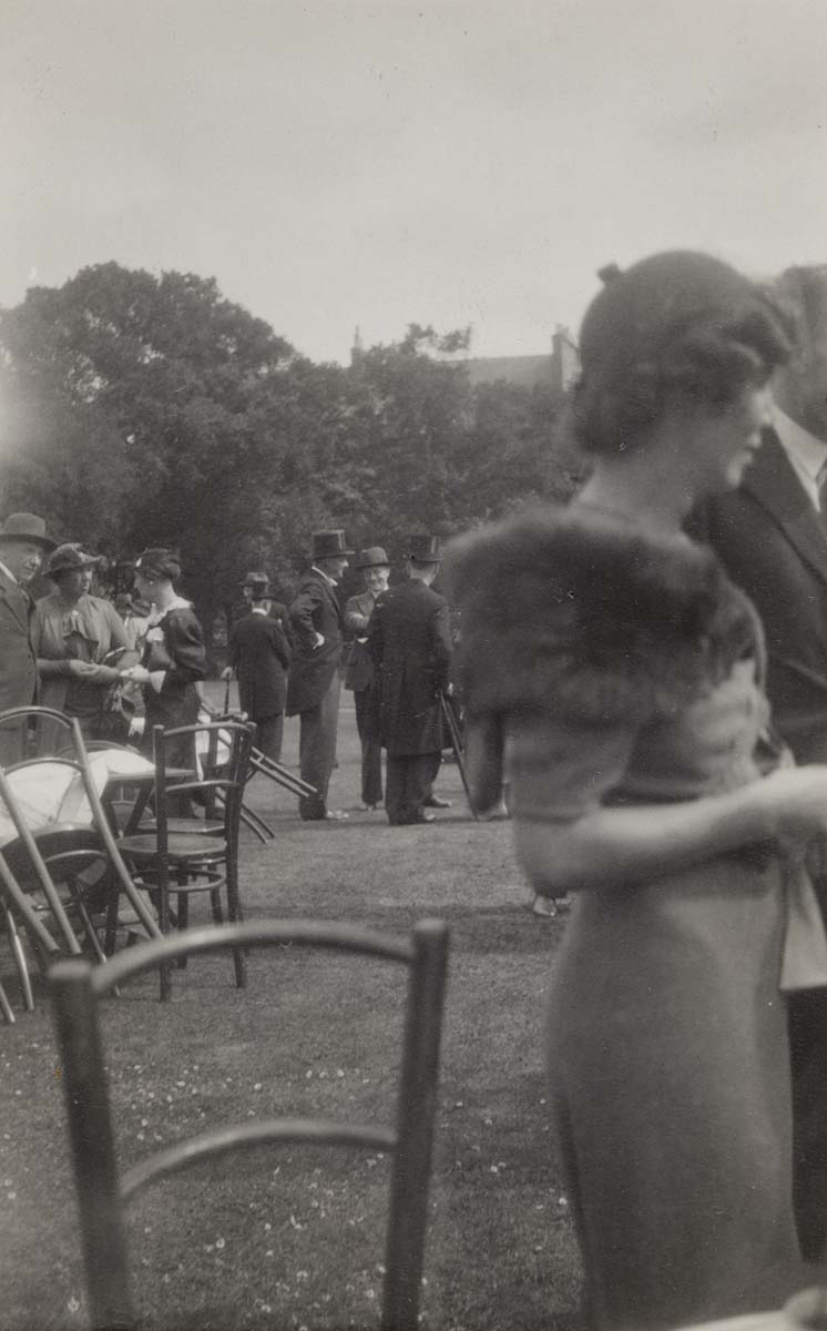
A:
{"type": "Polygon", "coordinates": [[[432,823],[425,812],[443,749],[440,692],[449,689],[448,602],[431,583],[439,571],[436,538],[411,536],[408,579],[376,602],[368,652],[379,680],[382,741],[387,749],[388,823],[432,823]]]}

